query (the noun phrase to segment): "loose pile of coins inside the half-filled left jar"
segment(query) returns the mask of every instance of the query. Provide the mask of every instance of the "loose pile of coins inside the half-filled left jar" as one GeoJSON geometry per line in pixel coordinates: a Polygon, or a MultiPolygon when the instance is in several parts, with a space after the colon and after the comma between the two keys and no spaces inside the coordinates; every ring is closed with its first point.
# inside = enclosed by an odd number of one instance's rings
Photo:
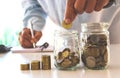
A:
{"type": "Polygon", "coordinates": [[[79,52],[72,52],[70,48],[63,49],[62,52],[59,52],[55,57],[56,64],[61,69],[74,67],[79,64],[80,57],[79,52]]]}

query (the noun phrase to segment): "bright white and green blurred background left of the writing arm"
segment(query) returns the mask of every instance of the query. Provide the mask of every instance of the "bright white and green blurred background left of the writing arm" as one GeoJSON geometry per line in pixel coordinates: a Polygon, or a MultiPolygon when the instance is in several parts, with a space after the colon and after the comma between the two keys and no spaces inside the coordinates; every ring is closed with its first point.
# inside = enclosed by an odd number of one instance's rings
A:
{"type": "Polygon", "coordinates": [[[20,0],[2,0],[0,10],[0,44],[19,45],[17,37],[23,16],[20,0]]]}

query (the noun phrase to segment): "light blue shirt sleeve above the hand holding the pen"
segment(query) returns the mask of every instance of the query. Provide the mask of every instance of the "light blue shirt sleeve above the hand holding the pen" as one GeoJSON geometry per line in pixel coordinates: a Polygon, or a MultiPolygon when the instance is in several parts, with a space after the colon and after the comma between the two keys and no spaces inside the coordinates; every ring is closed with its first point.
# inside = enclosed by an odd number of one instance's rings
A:
{"type": "Polygon", "coordinates": [[[46,22],[47,14],[44,12],[37,0],[22,0],[24,9],[23,25],[28,26],[28,21],[33,20],[33,29],[41,31],[46,22]]]}

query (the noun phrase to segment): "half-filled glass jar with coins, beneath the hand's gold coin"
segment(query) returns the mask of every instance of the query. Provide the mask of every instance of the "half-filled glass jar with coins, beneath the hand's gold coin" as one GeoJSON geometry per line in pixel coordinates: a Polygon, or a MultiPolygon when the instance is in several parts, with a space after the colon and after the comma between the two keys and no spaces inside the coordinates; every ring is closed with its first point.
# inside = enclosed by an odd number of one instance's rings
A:
{"type": "Polygon", "coordinates": [[[54,59],[57,69],[75,70],[80,63],[78,32],[56,31],[54,38],[54,59]]]}

